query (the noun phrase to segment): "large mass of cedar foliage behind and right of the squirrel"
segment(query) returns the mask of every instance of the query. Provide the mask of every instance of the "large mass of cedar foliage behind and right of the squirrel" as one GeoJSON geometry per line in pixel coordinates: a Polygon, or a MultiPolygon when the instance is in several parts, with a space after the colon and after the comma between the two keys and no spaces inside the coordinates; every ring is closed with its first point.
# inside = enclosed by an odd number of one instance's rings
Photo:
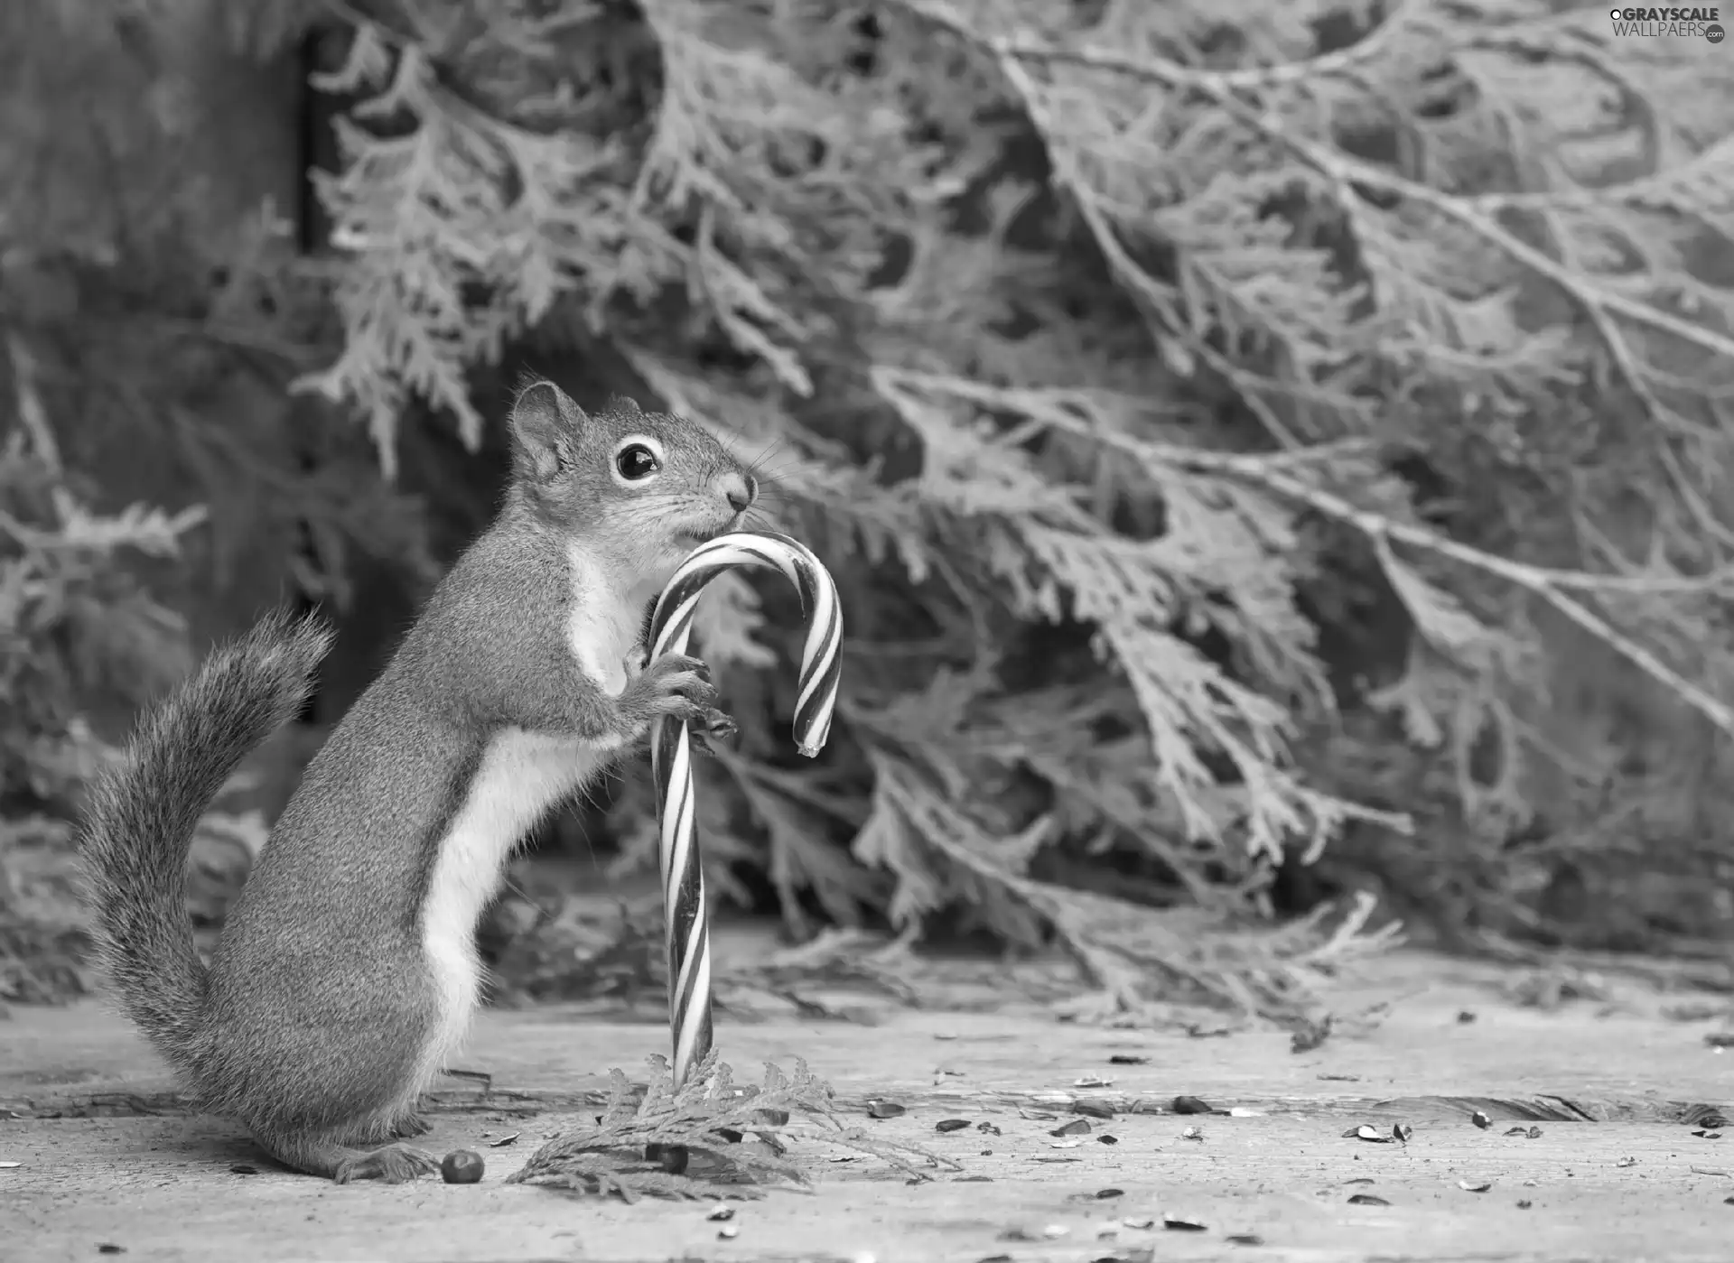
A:
{"type": "Polygon", "coordinates": [[[1550,0],[225,12],[342,40],[295,386],[387,475],[520,347],[770,452],[853,641],[798,764],[794,612],[716,586],[723,894],[1269,1012],[1379,941],[1212,936],[1285,856],[1458,941],[1734,920],[1679,906],[1729,871],[1725,49],[1550,0]]]}

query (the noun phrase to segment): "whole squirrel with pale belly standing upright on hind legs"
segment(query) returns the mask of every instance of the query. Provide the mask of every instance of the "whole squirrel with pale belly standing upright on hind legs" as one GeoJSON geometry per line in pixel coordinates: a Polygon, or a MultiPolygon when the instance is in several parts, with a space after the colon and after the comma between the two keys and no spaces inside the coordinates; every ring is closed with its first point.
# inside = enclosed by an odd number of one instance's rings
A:
{"type": "Polygon", "coordinates": [[[399,1183],[418,1100],[482,986],[475,927],[524,835],[657,717],[727,736],[707,667],[645,664],[650,601],[758,497],[697,423],[628,398],[586,414],[532,381],[494,521],[307,764],[210,967],[186,908],[196,821],[300,714],[331,644],[265,615],[218,646],[92,785],[80,852],[97,965],[212,1114],[309,1175],[399,1183]]]}

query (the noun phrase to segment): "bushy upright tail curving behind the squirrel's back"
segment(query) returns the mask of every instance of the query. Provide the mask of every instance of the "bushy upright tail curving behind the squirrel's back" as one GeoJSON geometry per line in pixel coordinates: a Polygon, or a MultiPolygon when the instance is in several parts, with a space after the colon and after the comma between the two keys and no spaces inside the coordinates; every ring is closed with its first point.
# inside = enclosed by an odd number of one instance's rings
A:
{"type": "Polygon", "coordinates": [[[192,828],[239,762],[300,710],[329,644],[314,619],[267,615],[163,698],[90,790],[80,852],[97,963],[177,1069],[192,1069],[205,1010],[186,906],[192,828]]]}

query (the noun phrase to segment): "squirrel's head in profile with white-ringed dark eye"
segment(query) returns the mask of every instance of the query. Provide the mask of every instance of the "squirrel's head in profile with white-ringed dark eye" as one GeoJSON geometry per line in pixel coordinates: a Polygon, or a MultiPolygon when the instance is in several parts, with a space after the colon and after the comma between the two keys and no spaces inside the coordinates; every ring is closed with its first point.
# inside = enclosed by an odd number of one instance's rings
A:
{"type": "Polygon", "coordinates": [[[699,423],[621,395],[584,412],[551,381],[512,405],[512,485],[541,525],[657,584],[758,499],[751,470],[699,423]]]}

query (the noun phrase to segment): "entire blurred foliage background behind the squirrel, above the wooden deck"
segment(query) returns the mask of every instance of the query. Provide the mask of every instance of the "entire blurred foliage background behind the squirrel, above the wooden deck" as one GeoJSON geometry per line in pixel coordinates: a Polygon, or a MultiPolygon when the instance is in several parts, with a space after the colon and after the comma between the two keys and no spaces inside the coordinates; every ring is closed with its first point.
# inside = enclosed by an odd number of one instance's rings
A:
{"type": "MultiPolygon", "coordinates": [[[[66,821],[134,709],[319,605],[220,922],[524,367],[714,426],[834,568],[817,762],[789,594],[699,629],[713,889],[794,941],[1058,946],[1110,1014],[1294,1014],[1398,920],[1715,958],[1731,55],[1561,0],[3,7],[0,994],[87,986],[66,821]]],[[[551,823],[508,991],[654,972],[572,915],[649,811],[551,823]]]]}

